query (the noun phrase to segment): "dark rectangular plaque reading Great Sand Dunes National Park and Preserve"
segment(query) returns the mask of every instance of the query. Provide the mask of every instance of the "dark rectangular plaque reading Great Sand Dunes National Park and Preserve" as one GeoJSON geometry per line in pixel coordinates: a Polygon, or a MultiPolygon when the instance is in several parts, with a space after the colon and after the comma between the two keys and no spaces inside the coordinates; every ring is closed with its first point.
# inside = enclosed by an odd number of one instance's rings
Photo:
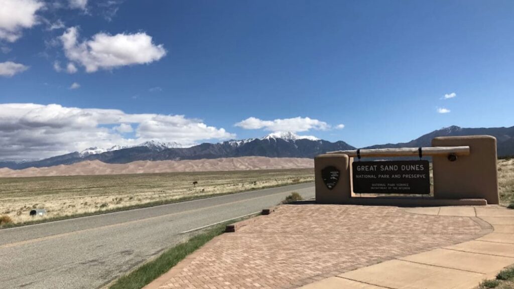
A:
{"type": "Polygon", "coordinates": [[[355,193],[429,194],[428,160],[354,161],[355,193]]]}

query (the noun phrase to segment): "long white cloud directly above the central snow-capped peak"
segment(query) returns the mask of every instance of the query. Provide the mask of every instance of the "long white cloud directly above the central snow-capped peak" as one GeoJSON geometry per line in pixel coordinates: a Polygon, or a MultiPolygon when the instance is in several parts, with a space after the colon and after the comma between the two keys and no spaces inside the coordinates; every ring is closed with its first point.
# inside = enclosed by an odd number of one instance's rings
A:
{"type": "Polygon", "coordinates": [[[275,120],[261,120],[259,118],[249,117],[245,120],[237,122],[234,125],[246,130],[264,129],[274,132],[306,132],[308,130],[327,130],[330,128],[326,122],[308,117],[295,117],[275,120]]]}

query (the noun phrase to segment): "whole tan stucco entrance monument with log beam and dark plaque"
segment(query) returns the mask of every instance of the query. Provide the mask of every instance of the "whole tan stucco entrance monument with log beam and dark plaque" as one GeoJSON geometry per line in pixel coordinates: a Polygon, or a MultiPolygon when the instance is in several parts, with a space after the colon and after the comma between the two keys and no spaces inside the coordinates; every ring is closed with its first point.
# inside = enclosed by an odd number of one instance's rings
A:
{"type": "Polygon", "coordinates": [[[317,203],[407,206],[499,203],[496,139],[492,136],[436,137],[432,147],[425,148],[328,152],[315,158],[314,167],[317,203]],[[406,156],[432,157],[433,196],[426,196],[430,193],[428,160],[360,161],[361,157],[406,156]],[[354,161],[355,157],[359,160],[354,161]]]}

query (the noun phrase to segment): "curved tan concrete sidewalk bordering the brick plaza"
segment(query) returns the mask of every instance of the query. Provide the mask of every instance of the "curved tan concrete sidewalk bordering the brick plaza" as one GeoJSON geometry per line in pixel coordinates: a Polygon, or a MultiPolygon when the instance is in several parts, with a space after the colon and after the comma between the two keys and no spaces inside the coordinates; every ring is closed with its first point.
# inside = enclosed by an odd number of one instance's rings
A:
{"type": "Polygon", "coordinates": [[[470,289],[514,264],[514,211],[499,207],[413,208],[427,215],[478,217],[494,231],[476,240],[362,267],[302,289],[470,289]]]}

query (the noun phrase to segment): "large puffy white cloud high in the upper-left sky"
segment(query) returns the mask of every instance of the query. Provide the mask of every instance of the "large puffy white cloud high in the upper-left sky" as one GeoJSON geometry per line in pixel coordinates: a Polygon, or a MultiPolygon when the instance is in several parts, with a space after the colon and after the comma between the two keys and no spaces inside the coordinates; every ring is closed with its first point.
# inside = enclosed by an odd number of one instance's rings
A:
{"type": "Polygon", "coordinates": [[[148,64],[166,55],[166,49],[152,42],[144,32],[134,34],[97,33],[84,42],[78,41],[77,27],[68,28],[60,37],[66,57],[83,65],[88,73],[125,65],[148,64]]]}

